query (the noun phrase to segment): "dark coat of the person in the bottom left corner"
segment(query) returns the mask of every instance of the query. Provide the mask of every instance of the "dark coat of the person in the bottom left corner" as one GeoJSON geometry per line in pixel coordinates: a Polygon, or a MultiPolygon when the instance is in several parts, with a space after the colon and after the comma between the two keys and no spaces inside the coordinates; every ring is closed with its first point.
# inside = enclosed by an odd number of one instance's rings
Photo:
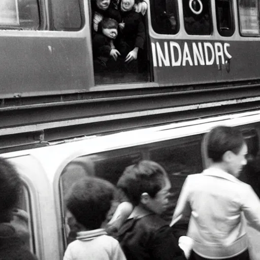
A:
{"type": "Polygon", "coordinates": [[[0,223],[0,260],[37,260],[8,223],[0,223]]]}

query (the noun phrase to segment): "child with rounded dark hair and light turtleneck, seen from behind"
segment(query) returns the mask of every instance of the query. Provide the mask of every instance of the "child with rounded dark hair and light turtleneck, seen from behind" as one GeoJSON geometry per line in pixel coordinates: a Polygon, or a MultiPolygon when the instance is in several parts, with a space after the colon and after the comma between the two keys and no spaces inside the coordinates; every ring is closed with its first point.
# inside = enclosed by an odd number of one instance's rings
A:
{"type": "Polygon", "coordinates": [[[118,241],[101,228],[113,194],[113,185],[100,178],[85,177],[74,183],[66,206],[79,232],[68,245],[63,260],[125,260],[118,241]]]}

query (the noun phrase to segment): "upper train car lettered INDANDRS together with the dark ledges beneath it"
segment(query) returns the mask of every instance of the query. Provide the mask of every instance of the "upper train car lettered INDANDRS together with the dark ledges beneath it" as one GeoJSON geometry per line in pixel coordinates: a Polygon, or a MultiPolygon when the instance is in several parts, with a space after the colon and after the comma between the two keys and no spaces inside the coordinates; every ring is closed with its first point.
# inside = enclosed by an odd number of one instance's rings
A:
{"type": "Polygon", "coordinates": [[[94,0],[1,1],[1,150],[260,107],[256,0],[144,1],[126,71],[95,66],[94,0]]]}

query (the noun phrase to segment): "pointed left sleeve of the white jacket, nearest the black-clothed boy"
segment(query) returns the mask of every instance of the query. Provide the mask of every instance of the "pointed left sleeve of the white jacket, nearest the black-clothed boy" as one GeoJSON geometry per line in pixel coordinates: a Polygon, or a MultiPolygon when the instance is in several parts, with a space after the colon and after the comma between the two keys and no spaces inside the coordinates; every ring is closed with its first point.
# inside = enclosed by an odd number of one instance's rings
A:
{"type": "Polygon", "coordinates": [[[189,216],[190,214],[191,208],[189,203],[189,177],[187,177],[183,183],[170,226],[173,226],[184,216],[189,216]]]}

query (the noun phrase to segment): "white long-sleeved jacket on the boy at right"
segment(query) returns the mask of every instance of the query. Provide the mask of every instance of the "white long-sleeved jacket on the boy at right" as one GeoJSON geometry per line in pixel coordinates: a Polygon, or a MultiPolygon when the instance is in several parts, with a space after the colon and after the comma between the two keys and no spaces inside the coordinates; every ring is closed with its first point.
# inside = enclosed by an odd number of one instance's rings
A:
{"type": "Polygon", "coordinates": [[[187,236],[194,239],[193,250],[206,258],[227,258],[248,247],[242,212],[260,231],[260,201],[251,186],[209,168],[186,178],[171,225],[190,215],[187,236]]]}

